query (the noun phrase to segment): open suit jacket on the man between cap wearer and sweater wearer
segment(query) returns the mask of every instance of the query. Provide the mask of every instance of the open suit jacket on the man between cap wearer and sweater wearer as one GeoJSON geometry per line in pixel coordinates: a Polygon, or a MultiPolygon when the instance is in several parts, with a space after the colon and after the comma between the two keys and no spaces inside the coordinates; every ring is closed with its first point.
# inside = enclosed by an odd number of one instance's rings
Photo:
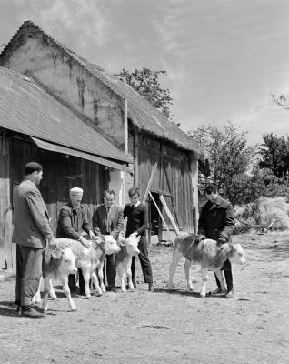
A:
{"type": "Polygon", "coordinates": [[[124,227],[123,208],[113,205],[108,214],[108,231],[106,228],[107,212],[105,204],[95,207],[93,229],[95,235],[110,233],[115,240],[124,227]]]}

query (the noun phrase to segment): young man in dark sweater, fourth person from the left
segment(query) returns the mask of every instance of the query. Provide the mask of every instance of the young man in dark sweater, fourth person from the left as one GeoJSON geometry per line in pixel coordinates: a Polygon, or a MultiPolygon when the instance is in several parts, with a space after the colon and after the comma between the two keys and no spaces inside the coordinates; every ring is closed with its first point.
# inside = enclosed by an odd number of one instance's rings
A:
{"type": "MultiPolygon", "coordinates": [[[[139,261],[143,270],[145,283],[148,283],[148,290],[154,292],[153,273],[151,262],[148,258],[147,241],[145,237],[145,229],[148,227],[146,207],[139,199],[140,193],[138,188],[130,188],[128,196],[131,202],[130,204],[126,204],[124,208],[124,218],[127,217],[125,238],[128,238],[131,235],[140,237],[138,243],[138,248],[140,250],[138,255],[139,261]]],[[[132,259],[132,279],[134,287],[136,287],[135,257],[132,259]]]]}

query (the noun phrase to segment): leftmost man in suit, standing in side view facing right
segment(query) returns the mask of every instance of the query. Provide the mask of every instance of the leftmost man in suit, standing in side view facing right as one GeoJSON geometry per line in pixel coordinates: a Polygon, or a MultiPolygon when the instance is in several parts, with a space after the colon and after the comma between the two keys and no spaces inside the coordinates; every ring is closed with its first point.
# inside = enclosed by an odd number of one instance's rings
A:
{"type": "Polygon", "coordinates": [[[45,202],[37,186],[40,184],[43,168],[39,163],[25,165],[25,179],[15,187],[14,231],[12,241],[16,246],[15,304],[19,315],[29,318],[43,318],[35,310],[32,298],[42,275],[43,250],[48,241],[50,248],[56,242],[49,227],[45,202]]]}

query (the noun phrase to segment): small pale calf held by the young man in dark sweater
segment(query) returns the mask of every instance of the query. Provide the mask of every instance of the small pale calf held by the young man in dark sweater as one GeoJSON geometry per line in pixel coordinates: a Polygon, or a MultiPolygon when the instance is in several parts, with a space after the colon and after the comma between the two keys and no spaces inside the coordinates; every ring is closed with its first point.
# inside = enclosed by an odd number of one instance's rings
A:
{"type": "Polygon", "coordinates": [[[125,273],[128,278],[128,287],[134,290],[134,284],[132,281],[132,258],[135,254],[139,254],[140,251],[137,248],[140,237],[128,237],[119,238],[120,252],[115,256],[116,270],[121,279],[121,290],[126,291],[125,288],[125,273]]]}

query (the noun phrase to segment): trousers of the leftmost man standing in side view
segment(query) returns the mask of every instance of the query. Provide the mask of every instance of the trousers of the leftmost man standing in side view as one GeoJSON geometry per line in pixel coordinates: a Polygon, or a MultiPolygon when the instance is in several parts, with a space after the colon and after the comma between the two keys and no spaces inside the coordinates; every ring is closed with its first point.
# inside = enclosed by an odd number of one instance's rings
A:
{"type": "Polygon", "coordinates": [[[16,246],[15,304],[29,309],[42,276],[43,248],[16,246]]]}

